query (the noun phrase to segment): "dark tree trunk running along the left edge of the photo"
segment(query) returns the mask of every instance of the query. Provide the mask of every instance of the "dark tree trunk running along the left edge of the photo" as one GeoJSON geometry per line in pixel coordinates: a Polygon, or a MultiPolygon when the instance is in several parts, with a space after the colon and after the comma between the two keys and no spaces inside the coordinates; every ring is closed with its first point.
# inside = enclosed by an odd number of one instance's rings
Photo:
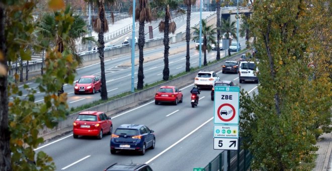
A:
{"type": "MultiPolygon", "coordinates": [[[[6,36],[5,36],[5,6],[0,3],[0,53],[4,56],[0,63],[8,70],[6,56],[6,36]]],[[[10,131],[8,127],[8,80],[7,73],[0,76],[0,170],[12,170],[10,131]]]]}

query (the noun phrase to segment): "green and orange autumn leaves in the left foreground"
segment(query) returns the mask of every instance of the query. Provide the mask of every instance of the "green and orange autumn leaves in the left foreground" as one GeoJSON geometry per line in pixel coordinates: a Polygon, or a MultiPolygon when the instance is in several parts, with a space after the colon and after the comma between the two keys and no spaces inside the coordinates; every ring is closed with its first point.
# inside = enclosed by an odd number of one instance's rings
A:
{"type": "MultiPolygon", "coordinates": [[[[72,83],[77,62],[74,60],[70,50],[63,47],[60,53],[58,48],[44,46],[42,42],[36,43],[32,38],[32,32],[36,29],[33,22],[32,12],[37,1],[16,1],[0,3],[0,56],[2,84],[1,94],[1,159],[0,170],[53,170],[55,165],[52,158],[43,151],[35,153],[34,149],[43,142],[38,136],[39,130],[46,126],[53,128],[56,119],[64,118],[68,109],[66,104],[67,94],[56,96],[57,91],[63,83],[72,83]],[[3,16],[5,14],[6,16],[3,16]],[[6,18],[9,22],[4,22],[6,18]],[[5,33],[5,34],[3,34],[5,33]],[[6,37],[4,37],[6,35],[6,37]],[[46,48],[45,74],[36,79],[39,83],[38,91],[44,94],[43,103],[35,103],[34,94],[37,90],[29,89],[24,85],[27,96],[15,84],[14,78],[8,77],[7,61],[16,61],[20,56],[23,60],[31,60],[31,51],[24,50],[27,45],[34,49],[46,48]],[[13,98],[9,101],[9,97],[13,98]],[[7,119],[7,121],[6,121],[7,119]],[[6,121],[6,122],[4,122],[6,121]],[[10,149],[9,149],[10,147],[10,149]],[[35,161],[35,164],[34,162],[35,161]]],[[[62,1],[50,1],[51,10],[56,13],[57,23],[53,32],[56,32],[63,40],[73,24],[73,17],[68,15],[62,1]]],[[[46,39],[56,37],[46,37],[46,39]]],[[[18,77],[16,74],[15,77],[18,77]]]]}

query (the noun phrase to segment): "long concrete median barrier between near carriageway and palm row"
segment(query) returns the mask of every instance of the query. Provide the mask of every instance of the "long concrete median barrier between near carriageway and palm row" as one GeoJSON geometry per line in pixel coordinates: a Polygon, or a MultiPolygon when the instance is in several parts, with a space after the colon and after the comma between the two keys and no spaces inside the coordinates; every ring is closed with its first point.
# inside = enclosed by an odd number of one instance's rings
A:
{"type": "MultiPolygon", "coordinates": [[[[246,51],[237,54],[233,57],[227,58],[227,59],[223,59],[220,60],[219,62],[216,62],[212,65],[208,65],[205,67],[202,67],[201,69],[198,69],[194,72],[188,73],[186,75],[183,75],[181,77],[163,82],[161,84],[155,85],[154,87],[151,87],[149,89],[140,91],[140,92],[136,92],[130,95],[127,95],[125,97],[119,98],[119,99],[115,99],[113,101],[110,102],[106,102],[94,107],[91,107],[89,109],[86,109],[85,111],[104,111],[106,112],[108,115],[114,115],[117,114],[119,112],[122,112],[126,109],[132,108],[134,106],[137,106],[139,104],[142,104],[144,102],[150,101],[154,99],[154,95],[157,92],[157,90],[160,88],[160,86],[162,85],[175,85],[179,88],[184,87],[185,85],[191,84],[193,83],[194,78],[196,77],[197,73],[200,70],[220,70],[221,69],[221,64],[226,61],[226,60],[235,60],[237,58],[239,58],[242,54],[245,54],[246,51]]],[[[222,79],[222,78],[220,78],[222,79]]],[[[67,127],[71,127],[73,121],[76,119],[77,115],[79,114],[79,112],[76,112],[74,114],[70,114],[66,117],[66,119],[64,120],[59,120],[57,121],[58,124],[56,127],[54,127],[53,129],[49,129],[46,126],[44,126],[43,129],[41,129],[39,131],[39,136],[44,136],[46,134],[67,128],[67,127]]]]}

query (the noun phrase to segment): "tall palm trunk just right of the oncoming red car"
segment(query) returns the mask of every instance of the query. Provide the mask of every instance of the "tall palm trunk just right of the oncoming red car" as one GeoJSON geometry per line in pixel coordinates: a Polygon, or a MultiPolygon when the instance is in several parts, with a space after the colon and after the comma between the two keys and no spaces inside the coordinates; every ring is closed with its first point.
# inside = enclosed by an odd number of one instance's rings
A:
{"type": "MultiPolygon", "coordinates": [[[[98,53],[99,53],[99,59],[100,59],[100,69],[102,74],[102,93],[101,97],[102,100],[107,100],[107,89],[106,89],[106,77],[105,77],[105,63],[104,63],[104,28],[105,28],[105,8],[104,8],[104,2],[97,1],[98,7],[101,8],[101,12],[99,13],[99,19],[101,21],[101,31],[98,33],[98,53]]],[[[135,40],[133,40],[135,41],[135,40]]]]}

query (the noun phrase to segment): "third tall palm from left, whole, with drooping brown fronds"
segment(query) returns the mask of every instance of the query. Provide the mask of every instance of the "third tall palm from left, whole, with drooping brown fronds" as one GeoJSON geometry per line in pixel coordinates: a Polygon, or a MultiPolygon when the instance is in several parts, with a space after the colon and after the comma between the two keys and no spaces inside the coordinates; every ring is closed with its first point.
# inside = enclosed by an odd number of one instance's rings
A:
{"type": "Polygon", "coordinates": [[[170,9],[177,9],[179,5],[179,0],[156,0],[153,1],[152,6],[154,7],[151,11],[157,18],[163,17],[163,20],[159,23],[159,32],[163,33],[163,61],[164,68],[162,70],[162,80],[169,80],[170,78],[170,68],[169,68],[169,50],[170,50],[170,39],[169,34],[175,33],[177,25],[172,22],[172,16],[170,9]]]}

